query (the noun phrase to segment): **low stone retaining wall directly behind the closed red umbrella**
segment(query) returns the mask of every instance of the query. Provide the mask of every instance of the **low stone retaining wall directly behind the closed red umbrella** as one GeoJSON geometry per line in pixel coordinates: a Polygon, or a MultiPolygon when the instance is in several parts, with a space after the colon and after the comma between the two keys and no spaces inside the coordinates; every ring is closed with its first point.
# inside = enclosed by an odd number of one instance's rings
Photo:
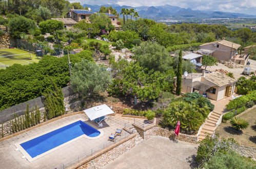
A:
{"type": "MultiPolygon", "coordinates": [[[[167,129],[157,128],[157,127],[154,127],[152,129],[145,131],[144,135],[145,135],[145,139],[149,139],[153,136],[162,136],[162,137],[167,137],[167,138],[174,140],[174,137],[175,137],[173,131],[169,131],[167,129]]],[[[175,139],[185,141],[185,142],[190,142],[190,143],[198,142],[198,136],[187,135],[187,134],[182,134],[182,133],[180,133],[179,136],[176,136],[175,139]]]]}

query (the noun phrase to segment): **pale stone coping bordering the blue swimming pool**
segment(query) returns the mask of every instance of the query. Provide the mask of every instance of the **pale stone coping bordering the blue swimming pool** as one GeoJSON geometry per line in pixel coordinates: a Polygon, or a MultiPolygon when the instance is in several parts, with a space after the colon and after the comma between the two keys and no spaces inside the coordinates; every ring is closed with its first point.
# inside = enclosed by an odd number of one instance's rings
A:
{"type": "MultiPolygon", "coordinates": [[[[20,151],[20,152],[25,156],[25,157],[23,156],[22,158],[26,158],[29,162],[32,162],[32,161],[34,161],[34,160],[36,160],[36,159],[38,159],[38,158],[41,158],[41,157],[43,157],[43,156],[45,156],[45,155],[47,155],[47,154],[49,154],[49,153],[51,153],[51,152],[54,152],[54,151],[57,150],[57,149],[60,149],[61,147],[65,146],[65,145],[67,145],[67,144],[70,144],[70,143],[72,143],[72,142],[74,142],[74,141],[76,141],[76,140],[78,140],[78,139],[80,139],[80,138],[83,138],[83,137],[84,137],[84,138],[87,138],[87,139],[90,139],[90,140],[94,140],[94,139],[100,138],[100,137],[102,137],[102,136],[104,135],[104,131],[103,131],[102,129],[96,129],[96,130],[98,130],[98,131],[101,132],[101,134],[100,134],[99,136],[96,136],[96,137],[89,137],[89,136],[83,134],[83,135],[81,135],[81,136],[79,136],[79,137],[76,137],[76,138],[74,138],[74,139],[72,139],[72,140],[70,140],[70,141],[68,141],[68,142],[65,142],[64,144],[61,144],[61,145],[59,145],[59,146],[56,146],[56,147],[54,147],[53,149],[51,149],[51,150],[49,150],[49,151],[47,151],[47,152],[45,152],[45,153],[42,153],[42,154],[40,154],[40,155],[38,155],[38,156],[36,156],[36,157],[34,157],[34,158],[32,158],[32,157],[27,153],[27,151],[26,151],[25,149],[23,149],[23,147],[21,146],[21,144],[24,143],[24,142],[27,142],[27,141],[32,140],[32,139],[34,139],[34,138],[40,137],[40,136],[45,135],[45,134],[47,134],[47,133],[50,133],[50,132],[52,132],[52,131],[54,131],[54,130],[58,130],[58,129],[60,129],[60,128],[63,128],[63,127],[66,126],[66,125],[72,124],[72,123],[74,123],[74,122],[76,122],[76,121],[80,121],[80,120],[83,121],[83,122],[85,122],[85,119],[78,118],[78,119],[72,120],[72,121],[70,121],[70,122],[68,122],[68,123],[66,123],[66,124],[57,126],[57,127],[54,128],[54,129],[51,129],[51,130],[49,130],[49,131],[43,132],[43,133],[41,133],[41,134],[38,134],[38,135],[36,135],[36,136],[34,136],[34,137],[31,137],[31,138],[28,138],[28,139],[26,139],[26,140],[23,140],[23,141],[20,141],[20,142],[18,142],[18,143],[15,143],[14,145],[17,147],[16,151],[20,151]]],[[[86,122],[85,122],[85,123],[86,123],[86,122]]],[[[89,125],[88,123],[86,123],[86,124],[89,125]]],[[[91,126],[91,125],[90,125],[90,126],[91,126]]],[[[91,126],[91,127],[94,128],[93,126],[91,126]]],[[[94,129],[95,129],[95,128],[94,128],[94,129]]]]}

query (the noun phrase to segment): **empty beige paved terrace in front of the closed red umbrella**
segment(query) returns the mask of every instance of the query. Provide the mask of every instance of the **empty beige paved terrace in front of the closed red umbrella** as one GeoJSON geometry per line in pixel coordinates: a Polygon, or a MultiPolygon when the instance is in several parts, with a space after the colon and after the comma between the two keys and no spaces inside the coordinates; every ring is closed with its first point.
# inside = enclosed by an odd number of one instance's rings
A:
{"type": "Polygon", "coordinates": [[[133,147],[103,168],[191,168],[196,147],[196,144],[156,136],[133,147]]]}

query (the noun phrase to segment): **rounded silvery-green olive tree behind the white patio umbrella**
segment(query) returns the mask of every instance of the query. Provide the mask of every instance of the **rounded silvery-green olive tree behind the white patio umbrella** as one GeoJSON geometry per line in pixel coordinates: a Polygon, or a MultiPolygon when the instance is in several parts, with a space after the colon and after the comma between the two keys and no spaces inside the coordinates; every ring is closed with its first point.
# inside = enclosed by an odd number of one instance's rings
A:
{"type": "Polygon", "coordinates": [[[105,91],[112,79],[104,68],[94,62],[82,59],[72,68],[71,85],[74,92],[82,96],[92,96],[100,91],[105,91]]]}

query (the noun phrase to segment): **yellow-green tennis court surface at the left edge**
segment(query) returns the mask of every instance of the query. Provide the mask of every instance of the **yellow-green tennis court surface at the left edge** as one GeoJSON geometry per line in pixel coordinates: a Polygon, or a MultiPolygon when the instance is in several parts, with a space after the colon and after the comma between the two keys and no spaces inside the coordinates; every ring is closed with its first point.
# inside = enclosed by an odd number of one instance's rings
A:
{"type": "Polygon", "coordinates": [[[0,50],[0,69],[6,68],[13,64],[28,65],[38,62],[36,55],[21,49],[1,49],[0,50]],[[28,54],[24,54],[28,53],[28,54]],[[23,54],[23,55],[17,55],[23,54]],[[13,56],[10,56],[13,55],[13,56]],[[4,57],[2,57],[4,56],[4,57]],[[32,56],[32,57],[31,57],[32,56]]]}

